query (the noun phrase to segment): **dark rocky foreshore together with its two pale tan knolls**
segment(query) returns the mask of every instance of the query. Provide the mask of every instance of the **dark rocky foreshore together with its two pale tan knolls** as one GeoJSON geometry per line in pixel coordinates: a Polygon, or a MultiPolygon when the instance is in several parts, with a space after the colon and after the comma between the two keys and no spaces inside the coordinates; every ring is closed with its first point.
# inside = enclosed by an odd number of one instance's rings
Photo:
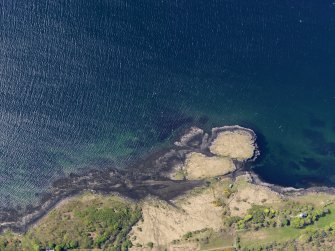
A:
{"type": "Polygon", "coordinates": [[[136,200],[143,199],[147,195],[169,200],[189,189],[203,185],[204,178],[240,170],[243,162],[255,158],[258,154],[256,135],[250,129],[239,126],[218,127],[213,128],[209,135],[200,128],[192,127],[181,136],[179,141],[175,142],[173,147],[150,154],[126,169],[92,170],[56,180],[49,192],[43,195],[39,205],[31,205],[24,209],[2,209],[0,230],[11,229],[16,232],[25,232],[30,225],[38,221],[60,201],[84,191],[101,194],[117,193],[136,200]],[[222,150],[217,147],[222,141],[221,137],[229,140],[235,137],[241,142],[232,140],[232,145],[225,145],[221,147],[222,150]],[[242,151],[240,148],[236,149],[240,155],[246,151],[244,159],[241,156],[229,156],[236,144],[242,143],[243,140],[247,141],[249,149],[242,151]],[[254,149],[252,156],[250,148],[254,149]],[[218,155],[217,151],[222,152],[218,155]],[[207,162],[206,166],[212,166],[209,172],[197,168],[202,161],[207,162]],[[185,162],[188,163],[186,165],[187,177],[176,173],[176,170],[184,166],[185,162]]]}

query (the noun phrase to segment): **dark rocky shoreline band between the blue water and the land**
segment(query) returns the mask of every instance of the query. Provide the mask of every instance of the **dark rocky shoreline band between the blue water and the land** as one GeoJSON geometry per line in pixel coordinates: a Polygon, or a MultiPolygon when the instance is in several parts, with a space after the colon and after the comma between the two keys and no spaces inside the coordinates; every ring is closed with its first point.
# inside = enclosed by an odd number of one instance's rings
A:
{"type": "MultiPolygon", "coordinates": [[[[10,229],[19,233],[25,232],[61,201],[85,191],[101,194],[116,193],[136,201],[148,195],[171,200],[205,183],[203,180],[171,180],[169,175],[173,168],[182,165],[187,154],[192,152],[213,156],[209,148],[218,134],[237,130],[249,133],[252,140],[256,142],[257,135],[251,129],[241,126],[216,127],[212,129],[211,134],[205,133],[200,128],[192,127],[183,134],[179,141],[174,143],[174,146],[155,152],[126,169],[92,170],[82,175],[71,174],[69,177],[56,180],[38,206],[28,207],[26,210],[13,208],[1,210],[0,231],[10,229]]],[[[302,195],[309,192],[335,194],[335,188],[295,189],[263,182],[253,171],[244,168],[245,162],[254,161],[259,156],[260,151],[256,143],[254,149],[252,158],[246,161],[235,160],[234,164],[237,168],[227,176],[236,178],[247,173],[251,183],[266,186],[282,196],[302,195]]]]}

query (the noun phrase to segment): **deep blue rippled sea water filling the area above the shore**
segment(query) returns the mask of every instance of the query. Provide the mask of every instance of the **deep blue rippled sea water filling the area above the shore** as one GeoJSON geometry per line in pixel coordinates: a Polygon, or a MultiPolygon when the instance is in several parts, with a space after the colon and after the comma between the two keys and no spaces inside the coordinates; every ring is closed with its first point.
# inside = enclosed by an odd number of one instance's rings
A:
{"type": "Polygon", "coordinates": [[[335,3],[1,0],[0,204],[178,129],[259,134],[263,179],[335,185],[335,3]]]}

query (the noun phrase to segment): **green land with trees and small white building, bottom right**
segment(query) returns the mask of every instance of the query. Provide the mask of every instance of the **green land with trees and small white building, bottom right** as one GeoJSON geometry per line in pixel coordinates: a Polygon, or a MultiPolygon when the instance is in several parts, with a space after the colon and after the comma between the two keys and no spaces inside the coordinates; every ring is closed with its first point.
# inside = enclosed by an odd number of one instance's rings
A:
{"type": "Polygon", "coordinates": [[[288,202],[282,210],[253,206],[234,217],[240,250],[331,250],[335,243],[335,206],[314,208],[288,202]],[[303,212],[303,213],[302,213],[303,212]]]}

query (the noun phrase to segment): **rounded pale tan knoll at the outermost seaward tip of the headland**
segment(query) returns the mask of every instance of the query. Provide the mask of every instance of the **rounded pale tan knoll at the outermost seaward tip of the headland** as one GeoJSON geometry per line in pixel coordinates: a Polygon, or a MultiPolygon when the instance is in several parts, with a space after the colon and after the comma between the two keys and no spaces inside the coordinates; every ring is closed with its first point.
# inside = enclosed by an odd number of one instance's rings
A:
{"type": "Polygon", "coordinates": [[[212,142],[210,151],[239,161],[247,160],[255,153],[254,137],[246,130],[220,132],[212,142]]]}

